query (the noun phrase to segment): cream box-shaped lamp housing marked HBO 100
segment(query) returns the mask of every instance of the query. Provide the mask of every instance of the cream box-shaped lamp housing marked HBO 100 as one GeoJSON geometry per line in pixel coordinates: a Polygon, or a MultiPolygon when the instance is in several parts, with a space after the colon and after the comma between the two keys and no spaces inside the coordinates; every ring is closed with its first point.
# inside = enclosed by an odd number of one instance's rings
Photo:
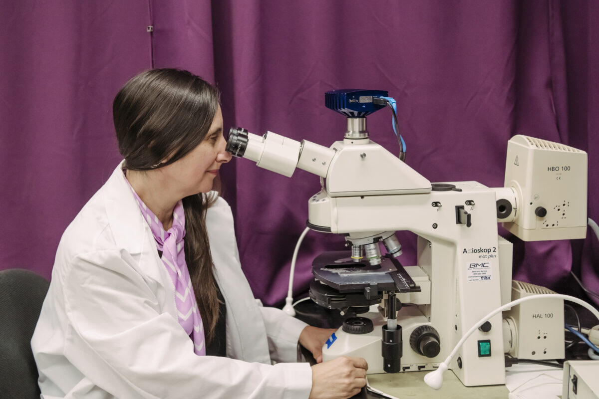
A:
{"type": "Polygon", "coordinates": [[[503,226],[525,241],[586,237],[585,151],[516,135],[507,144],[504,186],[515,194],[503,226]]]}

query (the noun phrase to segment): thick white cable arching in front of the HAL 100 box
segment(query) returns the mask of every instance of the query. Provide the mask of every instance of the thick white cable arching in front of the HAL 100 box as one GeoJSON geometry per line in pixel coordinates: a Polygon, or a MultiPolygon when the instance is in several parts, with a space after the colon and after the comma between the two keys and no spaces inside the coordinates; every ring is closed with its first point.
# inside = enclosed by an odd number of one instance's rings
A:
{"type": "Polygon", "coordinates": [[[578,299],[576,297],[569,296],[569,295],[540,294],[540,295],[534,295],[534,296],[530,296],[530,297],[516,299],[514,301],[506,303],[503,306],[498,307],[497,309],[493,310],[491,313],[489,313],[488,315],[486,315],[485,317],[480,319],[478,322],[476,322],[472,327],[470,327],[470,330],[466,331],[464,336],[462,336],[462,338],[456,344],[455,348],[453,348],[453,351],[451,351],[449,356],[447,356],[447,358],[443,361],[443,363],[439,364],[439,367],[437,368],[437,370],[431,371],[430,373],[426,374],[426,376],[424,376],[424,382],[426,383],[426,385],[430,386],[433,389],[441,388],[441,385],[443,385],[443,373],[445,372],[445,370],[447,370],[447,368],[449,368],[449,363],[451,362],[452,358],[455,356],[456,353],[458,353],[459,348],[461,348],[461,346],[464,345],[464,342],[472,335],[472,333],[474,333],[474,331],[476,331],[480,327],[480,325],[482,325],[483,323],[488,321],[493,316],[497,315],[497,313],[503,312],[504,310],[508,310],[513,306],[521,304],[522,302],[530,301],[533,299],[545,299],[545,298],[563,299],[563,300],[568,300],[568,301],[577,303],[580,306],[586,307],[586,309],[590,310],[591,313],[593,313],[593,315],[595,315],[595,317],[597,319],[599,319],[599,310],[595,309],[594,307],[592,307],[590,304],[586,303],[585,301],[578,299]]]}

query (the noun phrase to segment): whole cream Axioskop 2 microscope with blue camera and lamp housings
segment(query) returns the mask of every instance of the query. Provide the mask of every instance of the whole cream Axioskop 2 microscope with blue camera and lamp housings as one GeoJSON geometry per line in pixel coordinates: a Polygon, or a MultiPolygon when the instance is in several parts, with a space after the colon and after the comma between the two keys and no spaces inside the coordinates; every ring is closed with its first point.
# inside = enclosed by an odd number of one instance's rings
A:
{"type": "MultiPolygon", "coordinates": [[[[234,156],[265,169],[320,176],[307,226],[343,234],[350,248],[313,261],[310,298],[350,316],[323,360],[364,357],[368,373],[434,370],[483,316],[514,295],[544,292],[512,282],[512,243],[498,235],[498,223],[527,241],[586,236],[584,151],[517,135],[507,145],[504,187],[431,183],[404,162],[397,130],[398,156],[370,139],[367,115],[389,104],[383,90],[326,92],[325,105],[347,118],[343,139],[330,147],[241,128],[227,142],[234,156]],[[400,262],[401,230],[418,236],[415,265],[400,262]]],[[[489,318],[448,367],[466,386],[498,385],[506,353],[563,358],[563,301],[547,301],[489,318]]]]}

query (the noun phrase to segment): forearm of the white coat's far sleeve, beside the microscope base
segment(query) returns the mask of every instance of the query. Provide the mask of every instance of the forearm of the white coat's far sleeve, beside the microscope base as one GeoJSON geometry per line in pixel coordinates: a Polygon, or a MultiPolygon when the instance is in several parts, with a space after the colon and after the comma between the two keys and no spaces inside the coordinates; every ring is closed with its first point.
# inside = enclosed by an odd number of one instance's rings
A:
{"type": "Polygon", "coordinates": [[[298,361],[299,334],[307,326],[276,307],[260,307],[268,337],[270,358],[277,362],[298,361]]]}

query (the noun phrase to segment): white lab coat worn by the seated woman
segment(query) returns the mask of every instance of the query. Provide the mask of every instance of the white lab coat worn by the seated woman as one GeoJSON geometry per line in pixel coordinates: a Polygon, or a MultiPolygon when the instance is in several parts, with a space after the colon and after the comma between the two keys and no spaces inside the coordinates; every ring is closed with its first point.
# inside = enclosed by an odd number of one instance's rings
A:
{"type": "Polygon", "coordinates": [[[198,356],[174,286],[119,165],[60,240],[32,338],[44,398],[307,398],[305,324],[259,306],[241,271],[231,209],[207,211],[226,302],[227,357],[198,356]]]}

